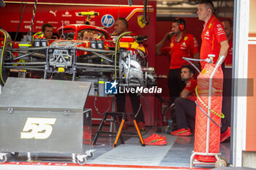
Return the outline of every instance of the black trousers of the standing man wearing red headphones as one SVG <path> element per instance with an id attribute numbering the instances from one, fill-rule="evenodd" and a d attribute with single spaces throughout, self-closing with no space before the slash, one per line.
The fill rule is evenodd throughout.
<path id="1" fill-rule="evenodd" d="M 169 88 L 170 103 L 172 104 L 186 86 L 185 82 L 181 81 L 181 69 L 169 70 L 167 85 Z"/>

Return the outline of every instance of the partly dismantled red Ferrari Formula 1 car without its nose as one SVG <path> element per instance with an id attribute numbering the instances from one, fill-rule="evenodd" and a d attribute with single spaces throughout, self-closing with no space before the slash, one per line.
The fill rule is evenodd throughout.
<path id="1" fill-rule="evenodd" d="M 81 40 L 85 30 L 93 32 L 95 38 Z M 146 67 L 146 49 L 140 45 L 145 37 L 127 38 L 127 32 L 112 39 L 103 28 L 78 24 L 62 26 L 57 33 L 60 39 L 34 37 L 31 42 L 23 40 L 18 48 L 13 48 L 10 35 L 0 29 L 1 85 L 10 72 L 21 72 L 27 77 L 41 72 L 44 79 L 90 81 L 90 94 L 98 96 L 105 96 L 102 82 L 106 81 L 116 80 L 127 86 L 155 85 L 154 69 Z"/>

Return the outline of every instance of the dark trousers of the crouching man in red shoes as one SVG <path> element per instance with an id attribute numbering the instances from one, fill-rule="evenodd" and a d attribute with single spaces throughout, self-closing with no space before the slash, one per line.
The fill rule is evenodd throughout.
<path id="1" fill-rule="evenodd" d="M 195 129 L 195 101 L 178 97 L 175 100 L 177 128 Z"/>

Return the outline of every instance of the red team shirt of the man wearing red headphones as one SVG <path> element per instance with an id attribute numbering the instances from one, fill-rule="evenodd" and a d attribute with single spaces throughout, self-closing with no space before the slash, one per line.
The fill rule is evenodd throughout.
<path id="1" fill-rule="evenodd" d="M 183 57 L 193 58 L 199 52 L 199 47 L 195 37 L 184 32 L 179 42 L 176 42 L 176 36 L 170 39 L 170 51 L 170 69 L 180 69 L 182 65 L 188 64 Z"/>

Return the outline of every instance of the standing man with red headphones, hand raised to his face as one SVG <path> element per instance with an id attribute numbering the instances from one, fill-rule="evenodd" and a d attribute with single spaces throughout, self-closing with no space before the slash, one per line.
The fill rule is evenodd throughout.
<path id="1" fill-rule="evenodd" d="M 170 40 L 170 70 L 168 73 L 167 84 L 169 87 L 170 102 L 173 103 L 181 90 L 184 88 L 184 82 L 181 81 L 181 66 L 188 64 L 184 61 L 186 58 L 199 58 L 199 47 L 195 36 L 187 34 L 184 30 L 186 23 L 181 18 L 176 18 L 172 23 L 172 32 L 167 33 L 161 42 L 157 44 L 157 55 L 165 54 L 162 50 L 167 39 Z M 171 37 L 171 39 L 170 39 Z"/>

